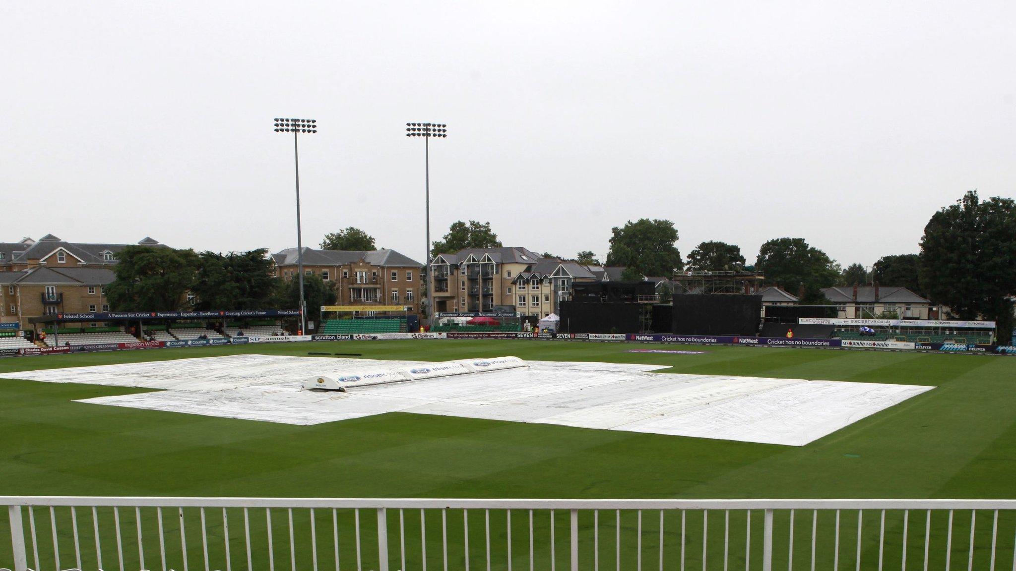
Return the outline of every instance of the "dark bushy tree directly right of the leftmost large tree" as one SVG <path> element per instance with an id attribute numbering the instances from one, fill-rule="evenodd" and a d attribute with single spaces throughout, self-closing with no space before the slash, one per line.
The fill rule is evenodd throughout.
<path id="1" fill-rule="evenodd" d="M 198 256 L 191 292 L 199 310 L 253 310 L 271 306 L 275 278 L 267 250 Z"/>

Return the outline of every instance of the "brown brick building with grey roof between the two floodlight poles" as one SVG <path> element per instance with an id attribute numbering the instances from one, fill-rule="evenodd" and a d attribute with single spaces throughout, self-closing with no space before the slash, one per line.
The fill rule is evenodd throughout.
<path id="1" fill-rule="evenodd" d="M 304 273 L 317 275 L 335 288 L 340 306 L 407 306 L 420 313 L 424 264 L 394 250 L 340 251 L 304 248 Z M 271 255 L 275 275 L 297 276 L 297 249 Z"/>

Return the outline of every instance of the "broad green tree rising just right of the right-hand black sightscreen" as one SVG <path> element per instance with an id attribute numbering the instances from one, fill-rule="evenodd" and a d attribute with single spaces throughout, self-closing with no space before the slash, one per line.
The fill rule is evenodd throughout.
<path id="1" fill-rule="evenodd" d="M 820 291 L 839 279 L 836 262 L 803 238 L 777 238 L 759 248 L 756 271 L 765 275 L 766 282 L 776 284 L 797 296 L 804 289 L 802 302 L 826 303 Z"/>

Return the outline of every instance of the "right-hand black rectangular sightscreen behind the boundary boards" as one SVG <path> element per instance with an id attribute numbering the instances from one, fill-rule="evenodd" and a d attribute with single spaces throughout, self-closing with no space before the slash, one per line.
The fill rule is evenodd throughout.
<path id="1" fill-rule="evenodd" d="M 762 321 L 762 296 L 676 294 L 674 333 L 756 335 Z"/>

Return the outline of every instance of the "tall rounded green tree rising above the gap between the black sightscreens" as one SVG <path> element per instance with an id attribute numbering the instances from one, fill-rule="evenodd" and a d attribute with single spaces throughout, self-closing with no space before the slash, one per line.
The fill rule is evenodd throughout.
<path id="1" fill-rule="evenodd" d="M 678 229 L 671 220 L 629 220 L 624 228 L 615 227 L 612 232 L 607 265 L 623 265 L 641 275 L 666 277 L 684 267 L 681 252 L 674 245 Z"/>

